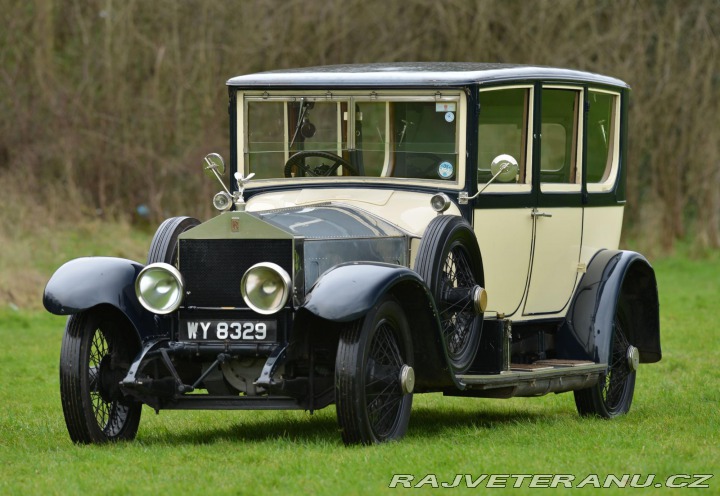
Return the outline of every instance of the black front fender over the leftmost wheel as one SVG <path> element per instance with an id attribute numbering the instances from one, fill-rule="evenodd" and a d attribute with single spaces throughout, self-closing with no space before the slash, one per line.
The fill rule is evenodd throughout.
<path id="1" fill-rule="evenodd" d="M 144 265 L 124 258 L 85 257 L 70 260 L 52 275 L 43 305 L 55 315 L 72 315 L 111 305 L 125 315 L 142 341 L 158 335 L 155 314 L 135 295 L 135 279 Z"/>

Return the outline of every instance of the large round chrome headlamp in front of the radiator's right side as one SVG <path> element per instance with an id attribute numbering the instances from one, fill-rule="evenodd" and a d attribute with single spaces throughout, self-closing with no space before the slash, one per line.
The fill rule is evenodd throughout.
<path id="1" fill-rule="evenodd" d="M 290 276 L 277 264 L 261 262 L 250 267 L 240 282 L 248 307 L 270 315 L 285 306 L 290 297 Z"/>

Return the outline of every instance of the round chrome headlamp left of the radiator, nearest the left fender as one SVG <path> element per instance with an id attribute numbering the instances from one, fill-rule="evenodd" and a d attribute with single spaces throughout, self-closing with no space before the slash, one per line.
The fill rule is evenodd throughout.
<path id="1" fill-rule="evenodd" d="M 147 310 L 160 315 L 174 312 L 182 303 L 185 282 L 180 271 L 166 263 L 145 267 L 135 279 L 135 294 Z"/>

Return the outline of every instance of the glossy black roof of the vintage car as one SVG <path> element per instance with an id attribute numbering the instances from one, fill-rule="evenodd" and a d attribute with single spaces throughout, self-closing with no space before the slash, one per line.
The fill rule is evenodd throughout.
<path id="1" fill-rule="evenodd" d="M 531 65 L 475 62 L 388 62 L 282 69 L 229 79 L 228 86 L 366 87 L 464 86 L 508 81 L 587 82 L 628 88 L 627 83 L 592 72 Z"/>

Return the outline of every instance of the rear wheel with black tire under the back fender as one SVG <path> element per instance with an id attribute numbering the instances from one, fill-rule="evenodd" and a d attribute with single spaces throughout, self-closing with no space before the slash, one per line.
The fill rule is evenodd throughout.
<path id="1" fill-rule="evenodd" d="M 610 419 L 630 411 L 636 372 L 630 367 L 627 357 L 631 344 L 628 340 L 626 311 L 618 304 L 607 373 L 594 386 L 574 392 L 575 406 L 580 415 Z"/>

